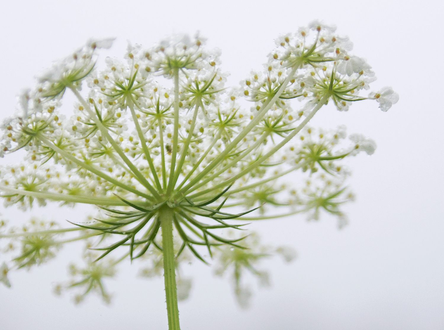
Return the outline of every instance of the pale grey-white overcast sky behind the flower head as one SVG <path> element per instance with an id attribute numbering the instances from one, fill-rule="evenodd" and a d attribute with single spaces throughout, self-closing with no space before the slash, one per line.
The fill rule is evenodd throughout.
<path id="1" fill-rule="evenodd" d="M 16 94 L 52 60 L 90 37 L 117 37 L 105 56 L 121 57 L 126 40 L 151 47 L 173 32 L 208 38 L 222 50 L 222 68 L 238 84 L 262 68 L 281 33 L 313 19 L 336 24 L 354 43 L 353 54 L 372 65 L 377 90 L 391 85 L 400 101 L 387 113 L 376 102 L 357 102 L 346 113 L 327 106 L 312 126 L 346 124 L 350 133 L 374 138 L 378 148 L 349 165 L 357 200 L 346 207 L 350 225 L 341 231 L 323 216 L 271 220 L 251 226 L 267 244 L 293 246 L 290 265 L 264 263 L 273 286 L 257 289 L 252 307 L 240 310 L 227 280 L 194 262 L 188 299 L 180 303 L 183 330 L 443 330 L 443 54 L 439 1 L 4 1 L 0 8 L 0 117 L 11 115 Z M 67 103 L 67 102 L 65 102 Z M 69 106 L 69 105 L 68 105 Z M 9 159 L 9 160 L 8 160 Z M 10 161 L 10 158 L 2 160 Z M 36 208 L 48 220 L 76 220 L 88 210 Z M 8 208 L 11 221 L 30 213 Z M 121 267 L 107 283 L 114 299 L 105 306 L 89 297 L 80 306 L 70 295 L 52 295 L 67 279 L 66 264 L 79 246 L 30 272 L 12 272 L 13 287 L 0 285 L 0 329 L 166 329 L 163 279 L 136 276 Z"/>

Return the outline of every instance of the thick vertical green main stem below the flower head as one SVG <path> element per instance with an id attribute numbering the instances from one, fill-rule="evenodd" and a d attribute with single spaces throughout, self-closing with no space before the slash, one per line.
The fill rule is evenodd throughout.
<path id="1" fill-rule="evenodd" d="M 177 306 L 176 274 L 173 247 L 174 211 L 165 206 L 159 210 L 162 227 L 163 277 L 165 279 L 166 311 L 168 313 L 168 329 L 180 330 L 179 309 Z"/>

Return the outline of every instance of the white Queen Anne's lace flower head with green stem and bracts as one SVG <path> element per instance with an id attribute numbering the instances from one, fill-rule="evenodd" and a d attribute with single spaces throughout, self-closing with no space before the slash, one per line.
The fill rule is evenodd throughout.
<path id="1" fill-rule="evenodd" d="M 220 51 L 206 50 L 200 35 L 173 35 L 151 49 L 128 43 L 123 60 L 106 58 L 99 71 L 97 50 L 111 43 L 90 40 L 55 63 L 34 89 L 24 90 L 18 113 L 2 125 L 0 156 L 21 150 L 25 158 L 23 165 L 0 169 L 6 206 L 29 209 L 56 201 L 101 209 L 74 228 L 45 225 L 1 234 L 21 242 L 16 267 L 44 263 L 62 244 L 88 239 L 88 248 L 100 253 L 88 252 L 85 268 L 71 267 L 75 282 L 56 291 L 83 287 L 76 302 L 92 291 L 109 302 L 102 281 L 115 274 L 115 264 L 151 256 L 143 275 L 163 267 L 169 315 L 177 316 L 177 298 L 186 298 L 190 289 L 189 279 L 178 275 L 176 291 L 175 270 L 180 274 L 177 262 L 184 253 L 204 262 L 219 253 L 219 273 L 234 268 L 242 306 L 251 293 L 241 283 L 242 267 L 268 283 L 267 273 L 253 265 L 277 250 L 248 250 L 243 244 L 257 245 L 252 238 L 221 234 L 241 228 L 231 220 L 300 212 L 317 220 L 322 211 L 337 216 L 340 227 L 346 223 L 341 206 L 353 195 L 341 160 L 360 151 L 372 154 L 376 143 L 352 134 L 348 145 L 345 127 L 307 124 L 329 101 L 344 111 L 376 99 L 386 111 L 398 94 L 384 87 L 362 96 L 376 77 L 334 27 L 313 21 L 278 37 L 263 69 L 234 88 L 226 86 Z M 164 79 L 171 83 L 163 86 Z M 76 101 L 65 118 L 61 99 L 67 90 Z M 308 176 L 302 188 L 285 179 L 294 171 Z M 247 209 L 239 212 L 239 206 Z M 59 234 L 68 231 L 71 238 L 61 240 Z M 94 262 L 121 247 L 128 250 L 117 261 Z M 292 259 L 287 250 L 277 253 Z M 6 274 L 0 276 L 8 285 Z"/>

